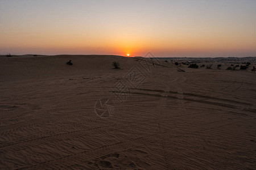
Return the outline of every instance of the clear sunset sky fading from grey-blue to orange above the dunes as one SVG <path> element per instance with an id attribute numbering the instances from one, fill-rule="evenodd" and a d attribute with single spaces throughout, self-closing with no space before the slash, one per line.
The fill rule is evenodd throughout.
<path id="1" fill-rule="evenodd" d="M 0 54 L 256 56 L 256 0 L 0 0 Z"/>

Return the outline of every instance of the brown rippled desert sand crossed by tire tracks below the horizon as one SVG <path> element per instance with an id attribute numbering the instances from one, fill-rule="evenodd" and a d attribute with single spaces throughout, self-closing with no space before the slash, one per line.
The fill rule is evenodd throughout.
<path id="1" fill-rule="evenodd" d="M 1 56 L 0 169 L 255 169 L 255 58 L 174 61 Z"/>

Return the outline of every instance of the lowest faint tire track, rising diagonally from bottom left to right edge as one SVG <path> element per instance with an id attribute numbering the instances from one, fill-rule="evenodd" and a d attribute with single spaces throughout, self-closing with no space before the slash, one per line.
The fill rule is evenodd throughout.
<path id="1" fill-rule="evenodd" d="M 221 124 L 220 124 L 221 121 L 217 121 L 217 122 L 210 122 L 210 123 L 203 124 L 203 125 L 188 127 L 188 128 L 181 128 L 183 131 L 186 131 L 186 133 L 178 134 L 178 135 L 176 135 L 176 133 L 178 133 L 178 130 L 171 131 L 171 132 L 164 132 L 161 134 L 156 133 L 156 134 L 148 135 L 147 137 L 136 138 L 136 139 L 133 139 L 128 142 L 118 142 L 118 143 L 114 143 L 113 145 L 101 146 L 94 150 L 82 151 L 78 154 L 65 156 L 63 158 L 58 158 L 55 160 L 49 160 L 47 162 L 36 164 L 36 165 L 21 167 L 19 169 L 27 169 L 27 168 L 30 168 L 30 169 L 39 169 L 39 168 L 40 169 L 47 169 L 47 168 L 61 169 L 61 168 L 65 168 L 65 167 L 69 167 L 74 164 L 85 162 L 87 160 L 91 160 L 96 157 L 100 157 L 100 156 L 103 156 L 103 155 L 106 155 L 109 153 L 127 150 L 130 148 L 146 145 L 148 143 L 160 141 L 163 139 L 181 137 L 182 135 L 194 133 L 196 131 L 207 130 L 207 129 L 221 127 L 221 126 L 225 126 L 225 125 L 229 125 L 229 124 L 235 124 L 237 122 L 255 119 L 255 117 L 251 117 L 251 118 L 244 118 L 244 117 L 241 118 L 240 117 L 237 119 L 239 119 L 239 120 L 238 121 L 231 121 L 229 119 L 222 120 Z M 181 130 L 181 129 L 179 129 L 179 130 Z M 90 157 L 90 155 L 94 155 L 93 158 Z"/>

